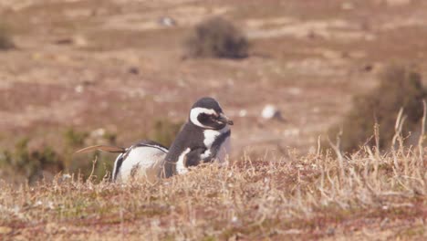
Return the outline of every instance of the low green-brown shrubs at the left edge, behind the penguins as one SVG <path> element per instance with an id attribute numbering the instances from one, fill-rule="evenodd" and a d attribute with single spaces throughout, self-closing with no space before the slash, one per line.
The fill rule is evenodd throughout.
<path id="1" fill-rule="evenodd" d="M 115 134 L 106 133 L 102 138 L 115 141 Z M 70 128 L 64 132 L 65 146 L 61 152 L 43 145 L 36 149 L 28 148 L 29 139 L 23 138 L 16 142 L 15 148 L 0 152 L 0 169 L 5 180 L 22 183 L 35 183 L 43 177 L 54 176 L 59 172 L 81 174 L 86 179 L 92 173 L 93 160 L 97 159 L 93 175 L 96 181 L 102 180 L 113 167 L 115 156 L 108 153 L 93 152 L 75 155 L 79 148 L 84 147 L 89 133 L 75 131 Z"/>

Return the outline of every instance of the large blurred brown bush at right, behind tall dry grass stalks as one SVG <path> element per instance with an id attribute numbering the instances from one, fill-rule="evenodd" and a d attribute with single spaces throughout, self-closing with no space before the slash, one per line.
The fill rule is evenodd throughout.
<path id="1" fill-rule="evenodd" d="M 374 139 L 370 138 L 375 123 L 379 124 L 380 149 L 390 148 L 399 110 L 404 108 L 407 116 L 402 135 L 408 136 L 421 126 L 422 100 L 426 97 L 427 91 L 422 86 L 419 73 L 401 66 L 386 68 L 380 74 L 380 85 L 377 88 L 354 98 L 353 107 L 342 122 L 342 151 L 356 151 L 367 141 L 368 145 L 374 145 Z M 329 137 L 335 138 L 338 130 L 338 126 L 329 130 Z"/>

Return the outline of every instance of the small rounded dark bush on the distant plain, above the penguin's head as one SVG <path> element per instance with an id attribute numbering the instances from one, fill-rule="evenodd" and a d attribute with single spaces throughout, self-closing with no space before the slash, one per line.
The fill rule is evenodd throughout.
<path id="1" fill-rule="evenodd" d="M 249 43 L 233 24 L 213 17 L 195 26 L 185 47 L 188 56 L 193 58 L 246 58 Z"/>

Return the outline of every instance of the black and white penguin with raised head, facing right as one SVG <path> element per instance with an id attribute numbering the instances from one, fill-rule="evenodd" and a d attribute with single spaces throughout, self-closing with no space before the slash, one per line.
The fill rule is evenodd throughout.
<path id="1" fill-rule="evenodd" d="M 230 152 L 229 125 L 233 121 L 224 115 L 218 101 L 208 97 L 197 100 L 166 154 L 162 177 L 187 173 L 189 167 L 201 162 L 226 162 Z"/>

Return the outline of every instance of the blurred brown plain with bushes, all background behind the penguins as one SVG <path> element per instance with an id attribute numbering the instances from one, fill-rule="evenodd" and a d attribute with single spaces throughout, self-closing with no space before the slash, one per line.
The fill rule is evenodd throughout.
<path id="1" fill-rule="evenodd" d="M 169 146 L 194 100 L 220 100 L 234 158 L 417 143 L 426 99 L 424 1 L 4 1 L 0 174 L 109 176 L 94 144 Z M 268 108 L 266 108 L 268 107 Z M 274 113 L 264 115 L 263 110 Z M 268 112 L 268 111 L 264 111 Z M 276 118 L 280 116 L 281 118 Z"/>

